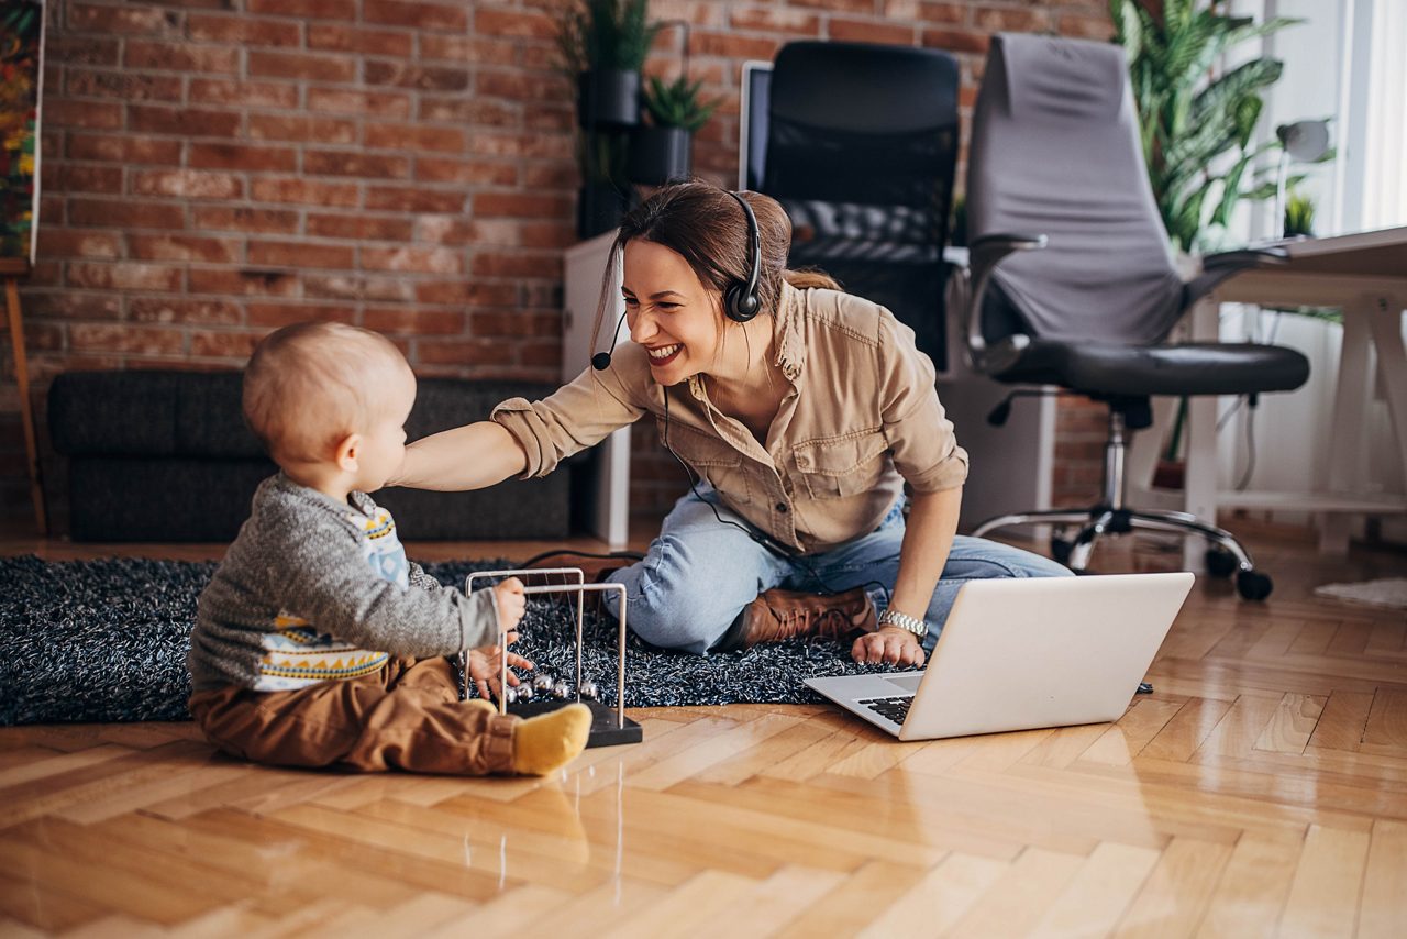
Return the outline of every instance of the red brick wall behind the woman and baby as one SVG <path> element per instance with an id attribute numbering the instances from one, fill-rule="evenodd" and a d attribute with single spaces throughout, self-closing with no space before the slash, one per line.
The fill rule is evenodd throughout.
<path id="1" fill-rule="evenodd" d="M 560 6 L 49 0 L 39 262 L 21 291 L 41 438 L 59 372 L 238 367 L 260 335 L 308 318 L 384 331 L 421 374 L 554 379 L 577 186 L 571 89 L 554 70 Z M 957 52 L 969 107 L 991 32 L 1107 38 L 1104 10 L 650 4 L 692 24 L 694 72 L 725 99 L 695 146 L 696 170 L 718 182 L 736 177 L 741 62 L 788 39 Z M 650 68 L 671 70 L 675 44 L 661 35 Z M 3 352 L 0 496 L 23 517 L 7 341 Z M 639 449 L 644 511 L 682 490 L 667 459 Z"/>

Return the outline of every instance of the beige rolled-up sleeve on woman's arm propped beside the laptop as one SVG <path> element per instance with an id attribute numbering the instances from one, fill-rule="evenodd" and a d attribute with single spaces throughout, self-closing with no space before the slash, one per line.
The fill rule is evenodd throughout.
<path id="1" fill-rule="evenodd" d="M 957 489 L 967 480 L 967 450 L 934 387 L 933 362 L 919 352 L 913 329 L 893 315 L 879 325 L 879 400 L 895 469 L 919 493 Z"/>

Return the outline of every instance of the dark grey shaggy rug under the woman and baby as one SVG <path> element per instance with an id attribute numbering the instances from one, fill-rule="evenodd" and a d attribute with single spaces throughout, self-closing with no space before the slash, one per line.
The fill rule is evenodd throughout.
<path id="1" fill-rule="evenodd" d="M 504 560 L 428 563 L 440 583 L 463 587 L 471 570 Z M 186 650 L 196 598 L 214 563 L 176 560 L 45 562 L 0 557 L 0 726 L 15 724 L 183 721 Z M 478 584 L 476 584 L 477 587 Z M 515 650 L 537 672 L 575 669 L 575 607 L 533 597 Z M 587 612 L 582 670 L 616 698 L 616 621 Z M 794 639 L 747 652 L 692 656 L 626 645 L 626 707 L 819 701 L 802 679 L 885 670 L 850 660 L 834 642 Z"/>

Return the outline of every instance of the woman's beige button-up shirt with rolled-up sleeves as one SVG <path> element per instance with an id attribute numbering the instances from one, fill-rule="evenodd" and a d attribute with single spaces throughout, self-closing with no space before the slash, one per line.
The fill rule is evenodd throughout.
<path id="1" fill-rule="evenodd" d="M 913 329 L 868 300 L 785 283 L 771 322 L 775 362 L 791 387 L 765 443 L 713 405 L 701 376 L 657 384 L 635 344 L 622 345 L 605 372 L 587 369 L 542 401 L 509 398 L 491 420 L 522 445 L 530 479 L 653 414 L 666 445 L 723 504 L 802 552 L 874 531 L 905 480 L 919 493 L 962 484 L 967 452 Z"/>

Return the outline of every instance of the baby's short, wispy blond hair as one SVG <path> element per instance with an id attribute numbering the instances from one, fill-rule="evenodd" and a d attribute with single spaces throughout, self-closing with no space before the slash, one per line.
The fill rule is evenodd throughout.
<path id="1" fill-rule="evenodd" d="M 284 327 L 265 336 L 245 367 L 245 421 L 280 466 L 326 460 L 376 420 L 383 379 L 394 369 L 409 366 L 378 332 L 340 322 Z"/>

